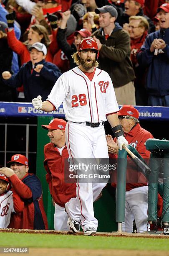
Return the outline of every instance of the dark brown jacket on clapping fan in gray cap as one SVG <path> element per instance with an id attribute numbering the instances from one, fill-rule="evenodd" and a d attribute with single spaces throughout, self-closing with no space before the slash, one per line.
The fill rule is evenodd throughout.
<path id="1" fill-rule="evenodd" d="M 99 68 L 108 72 L 114 87 L 133 81 L 135 76 L 130 60 L 129 34 L 118 23 L 115 23 L 115 28 L 107 40 L 102 28 L 92 36 L 96 36 L 102 44 L 98 58 Z"/>

